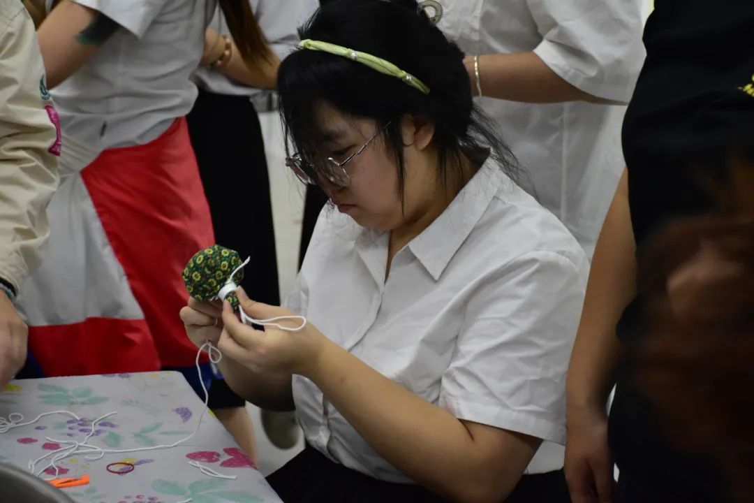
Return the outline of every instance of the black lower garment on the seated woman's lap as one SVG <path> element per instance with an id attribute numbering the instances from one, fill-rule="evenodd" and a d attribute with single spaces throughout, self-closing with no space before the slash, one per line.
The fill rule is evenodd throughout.
<path id="1" fill-rule="evenodd" d="M 327 459 L 307 444 L 304 451 L 267 477 L 284 503 L 441 503 L 415 484 L 385 482 Z M 506 503 L 570 503 L 562 471 L 524 475 Z"/>

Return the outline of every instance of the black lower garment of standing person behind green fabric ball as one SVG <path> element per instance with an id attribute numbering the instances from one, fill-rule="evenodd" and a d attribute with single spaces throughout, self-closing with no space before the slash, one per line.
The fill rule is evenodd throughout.
<path id="1" fill-rule="evenodd" d="M 215 241 L 238 251 L 242 260 L 251 257 L 241 282 L 249 297 L 278 305 L 270 180 L 259 116 L 247 97 L 200 91 L 188 121 Z M 244 403 L 225 381 L 212 383 L 211 408 Z"/>

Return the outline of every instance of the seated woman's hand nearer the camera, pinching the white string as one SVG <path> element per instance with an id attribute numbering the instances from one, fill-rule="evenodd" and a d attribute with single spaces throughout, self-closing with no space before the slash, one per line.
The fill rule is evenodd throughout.
<path id="1" fill-rule="evenodd" d="M 237 295 L 244 312 L 257 320 L 296 316 L 287 309 L 250 300 L 241 288 L 238 289 Z M 270 326 L 266 326 L 265 330 L 256 330 L 241 323 L 227 302 L 222 308 L 222 321 L 224 330 L 219 336 L 217 348 L 225 357 L 230 357 L 258 373 L 309 376 L 317 367 L 325 349 L 333 345 L 333 342 L 312 324 L 306 324 L 297 331 L 280 330 Z M 300 324 L 296 319 L 276 323 L 284 327 L 296 327 Z"/>

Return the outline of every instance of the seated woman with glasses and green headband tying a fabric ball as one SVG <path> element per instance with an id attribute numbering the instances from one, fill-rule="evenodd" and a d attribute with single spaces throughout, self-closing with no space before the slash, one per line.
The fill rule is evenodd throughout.
<path id="1" fill-rule="evenodd" d="M 309 324 L 181 313 L 234 391 L 296 409 L 307 447 L 268 480 L 296 502 L 569 501 L 561 472 L 524 473 L 565 440 L 583 250 L 512 181 L 463 54 L 415 2 L 332 2 L 302 38 L 278 74 L 289 163 L 338 213 L 323 210 L 287 308 L 239 295 L 253 317 Z"/>

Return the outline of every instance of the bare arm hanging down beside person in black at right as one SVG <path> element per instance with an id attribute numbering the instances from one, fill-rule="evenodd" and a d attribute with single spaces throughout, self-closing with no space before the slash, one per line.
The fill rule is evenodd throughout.
<path id="1" fill-rule="evenodd" d="M 624 171 L 597 240 L 566 384 L 566 478 L 574 503 L 612 501 L 606 406 L 621 358 L 615 326 L 635 293 L 636 244 Z"/>

